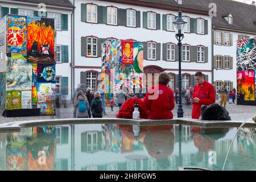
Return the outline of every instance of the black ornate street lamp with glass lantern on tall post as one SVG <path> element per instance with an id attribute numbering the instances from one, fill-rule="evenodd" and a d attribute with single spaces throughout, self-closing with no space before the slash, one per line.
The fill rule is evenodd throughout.
<path id="1" fill-rule="evenodd" d="M 179 107 L 177 109 L 177 117 L 178 118 L 183 118 L 183 109 L 182 109 L 182 104 L 181 104 L 181 40 L 184 38 L 183 30 L 185 27 L 185 20 L 182 18 L 182 11 L 178 12 L 178 17 L 174 21 L 174 26 L 175 26 L 175 32 L 176 32 L 176 39 L 178 40 L 177 46 L 179 47 Z"/>

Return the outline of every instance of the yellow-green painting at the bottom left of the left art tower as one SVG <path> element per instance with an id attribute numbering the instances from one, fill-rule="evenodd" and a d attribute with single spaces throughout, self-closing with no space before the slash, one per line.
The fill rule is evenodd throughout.
<path id="1" fill-rule="evenodd" d="M 6 109 L 22 109 L 22 98 L 21 91 L 13 90 L 6 92 Z"/>

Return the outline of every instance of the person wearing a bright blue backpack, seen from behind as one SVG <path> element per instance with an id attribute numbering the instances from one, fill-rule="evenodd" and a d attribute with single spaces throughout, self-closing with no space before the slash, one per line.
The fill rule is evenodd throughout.
<path id="1" fill-rule="evenodd" d="M 76 118 L 88 118 L 89 102 L 81 90 L 77 92 L 74 103 Z"/>

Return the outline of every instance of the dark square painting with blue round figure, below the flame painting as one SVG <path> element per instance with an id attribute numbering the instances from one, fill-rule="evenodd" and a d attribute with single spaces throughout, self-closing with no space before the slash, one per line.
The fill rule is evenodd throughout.
<path id="1" fill-rule="evenodd" d="M 55 65 L 38 64 L 38 82 L 55 82 Z"/>

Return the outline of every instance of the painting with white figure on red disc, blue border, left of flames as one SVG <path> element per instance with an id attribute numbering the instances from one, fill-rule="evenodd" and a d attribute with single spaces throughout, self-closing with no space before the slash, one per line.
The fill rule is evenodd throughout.
<path id="1" fill-rule="evenodd" d="M 8 15 L 7 50 L 9 53 L 27 54 L 27 20 L 26 16 Z"/>

